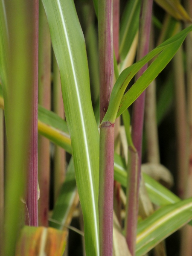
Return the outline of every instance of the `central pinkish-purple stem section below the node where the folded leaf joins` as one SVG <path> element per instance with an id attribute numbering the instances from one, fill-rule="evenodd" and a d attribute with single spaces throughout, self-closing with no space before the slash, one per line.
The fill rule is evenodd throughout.
<path id="1" fill-rule="evenodd" d="M 104 123 L 105 124 L 105 123 Z M 100 128 L 99 230 L 100 255 L 113 254 L 114 124 Z M 109 126 L 107 126 L 109 125 Z"/>

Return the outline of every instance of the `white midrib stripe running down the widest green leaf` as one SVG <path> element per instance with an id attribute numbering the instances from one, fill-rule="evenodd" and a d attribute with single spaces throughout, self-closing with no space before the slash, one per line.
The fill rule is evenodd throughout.
<path id="1" fill-rule="evenodd" d="M 89 173 L 89 179 L 90 179 L 90 187 L 91 187 L 91 194 L 93 197 L 93 215 L 94 215 L 94 225 L 95 225 L 95 232 L 96 232 L 96 247 L 97 247 L 97 255 L 99 255 L 99 241 L 98 241 L 98 230 L 97 230 L 97 218 L 96 218 L 96 208 L 95 208 L 95 197 L 94 197 L 94 190 L 93 190 L 93 179 L 92 179 L 92 174 L 91 174 L 91 166 L 90 166 L 90 156 L 89 156 L 89 150 L 88 150 L 88 143 L 87 143 L 87 136 L 86 136 L 86 131 L 85 131 L 85 125 L 84 125 L 84 116 L 83 116 L 83 111 L 81 108 L 81 99 L 79 96 L 79 88 L 78 88 L 78 84 L 77 84 L 77 79 L 76 79 L 76 73 L 75 73 L 75 67 L 73 65 L 73 56 L 71 53 L 71 47 L 70 47 L 70 42 L 68 39 L 68 33 L 67 33 L 67 28 L 65 26 L 65 21 L 64 21 L 64 17 L 63 17 L 63 13 L 62 13 L 62 8 L 61 8 L 61 4 L 60 1 L 57 0 L 58 3 L 58 9 L 60 12 L 60 16 L 61 16 L 61 20 L 62 20 L 62 24 L 63 24 L 63 28 L 64 28 L 64 33 L 66 36 L 66 41 L 67 41 L 67 48 L 69 50 L 69 55 L 70 55 L 70 63 L 71 63 L 71 67 L 73 70 L 73 77 L 74 77 L 74 81 L 75 81 L 75 85 L 76 85 L 76 93 L 77 93 L 77 99 L 78 99 L 78 103 L 79 103 L 79 110 L 80 110 L 80 115 L 81 115 L 81 123 L 82 123 L 82 128 L 83 128 L 83 134 L 84 134 L 84 143 L 85 143 L 85 150 L 87 153 L 87 165 L 88 165 L 88 173 Z"/>

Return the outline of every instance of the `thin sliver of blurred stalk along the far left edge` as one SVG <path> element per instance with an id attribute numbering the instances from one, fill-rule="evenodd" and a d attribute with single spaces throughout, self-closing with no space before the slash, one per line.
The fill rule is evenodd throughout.
<path id="1" fill-rule="evenodd" d="M 4 226 L 4 114 L 0 109 L 0 248 L 3 248 Z M 0 250 L 3 256 L 3 250 Z"/>

